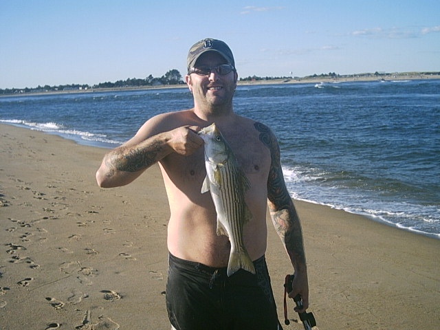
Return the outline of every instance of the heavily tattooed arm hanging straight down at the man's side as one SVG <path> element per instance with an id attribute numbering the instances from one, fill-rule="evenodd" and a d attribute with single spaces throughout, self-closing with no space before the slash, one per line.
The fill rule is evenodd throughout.
<path id="1" fill-rule="evenodd" d="M 293 291 L 289 296 L 293 298 L 300 294 L 303 297 L 303 310 L 305 310 L 309 306 L 309 285 L 300 219 L 285 185 L 278 141 L 267 126 L 259 123 L 255 126 L 260 131 L 261 142 L 270 148 L 272 157 L 267 179 L 267 204 L 270 216 L 295 270 Z"/>

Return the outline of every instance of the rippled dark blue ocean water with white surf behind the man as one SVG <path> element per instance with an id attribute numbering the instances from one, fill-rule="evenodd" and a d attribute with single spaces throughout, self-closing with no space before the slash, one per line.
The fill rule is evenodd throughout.
<path id="1" fill-rule="evenodd" d="M 0 122 L 113 148 L 187 89 L 0 98 Z M 240 86 L 236 113 L 272 128 L 292 197 L 440 239 L 440 80 Z"/>

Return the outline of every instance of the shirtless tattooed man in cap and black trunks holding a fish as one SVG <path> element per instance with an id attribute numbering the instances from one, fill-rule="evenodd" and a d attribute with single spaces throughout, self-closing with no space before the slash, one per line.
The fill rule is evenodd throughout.
<path id="1" fill-rule="evenodd" d="M 195 43 L 187 67 L 194 107 L 147 120 L 131 140 L 104 156 L 98 185 L 129 184 L 159 163 L 170 206 L 166 305 L 175 329 L 281 329 L 264 259 L 267 204 L 295 270 L 289 296 L 303 297 L 303 311 L 309 292 L 301 225 L 283 179 L 278 142 L 267 126 L 234 113 L 238 75 L 228 45 L 215 39 Z M 255 275 L 245 270 L 226 275 L 230 241 L 217 235 L 214 203 L 201 193 L 206 170 L 197 131 L 212 122 L 250 181 L 245 203 L 252 219 L 243 236 Z"/>

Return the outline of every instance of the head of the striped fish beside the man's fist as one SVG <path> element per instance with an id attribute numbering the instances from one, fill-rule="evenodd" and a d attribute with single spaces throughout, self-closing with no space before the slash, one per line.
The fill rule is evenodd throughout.
<path id="1" fill-rule="evenodd" d="M 215 123 L 199 131 L 200 137 L 205 142 L 205 158 L 214 164 L 223 164 L 230 155 L 230 146 L 217 128 Z"/>

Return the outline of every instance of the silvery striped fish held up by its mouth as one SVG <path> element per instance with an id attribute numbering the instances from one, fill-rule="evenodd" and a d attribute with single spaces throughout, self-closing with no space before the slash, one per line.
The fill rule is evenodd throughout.
<path id="1" fill-rule="evenodd" d="M 217 212 L 217 235 L 228 236 L 231 244 L 226 274 L 232 276 L 240 269 L 255 274 L 254 263 L 243 241 L 243 226 L 252 219 L 245 203 L 245 192 L 250 188 L 248 177 L 215 123 L 198 134 L 205 142 L 206 177 L 201 193 L 210 192 Z"/>

